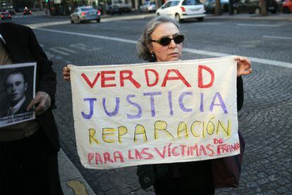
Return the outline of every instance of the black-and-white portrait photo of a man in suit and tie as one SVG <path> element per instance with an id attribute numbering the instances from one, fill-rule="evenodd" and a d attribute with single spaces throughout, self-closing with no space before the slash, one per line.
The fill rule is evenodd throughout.
<path id="1" fill-rule="evenodd" d="M 35 97 L 36 63 L 0 65 L 0 127 L 35 119 L 27 111 Z"/>

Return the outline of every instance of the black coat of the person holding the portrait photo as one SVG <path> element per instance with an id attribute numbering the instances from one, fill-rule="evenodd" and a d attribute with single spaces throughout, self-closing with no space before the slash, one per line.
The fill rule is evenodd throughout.
<path id="1" fill-rule="evenodd" d="M 51 61 L 37 42 L 30 27 L 14 23 L 0 23 L 0 33 L 6 42 L 6 50 L 13 63 L 37 62 L 36 91 L 46 92 L 51 96 L 51 108 L 37 116 L 37 121 L 56 150 L 60 149 L 59 135 L 52 108 L 56 108 L 56 73 L 51 68 Z"/>

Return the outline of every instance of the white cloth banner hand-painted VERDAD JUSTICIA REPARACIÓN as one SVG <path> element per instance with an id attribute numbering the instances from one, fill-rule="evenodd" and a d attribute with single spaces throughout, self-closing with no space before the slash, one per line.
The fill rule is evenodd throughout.
<path id="1" fill-rule="evenodd" d="M 233 56 L 71 68 L 85 168 L 203 161 L 240 153 Z"/>

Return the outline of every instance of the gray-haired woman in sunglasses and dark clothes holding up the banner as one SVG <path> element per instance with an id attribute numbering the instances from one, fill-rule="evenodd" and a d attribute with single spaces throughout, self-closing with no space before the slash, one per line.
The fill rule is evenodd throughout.
<path id="1" fill-rule="evenodd" d="M 149 62 L 179 61 L 184 38 L 175 20 L 166 16 L 153 18 L 138 41 L 138 56 Z M 234 60 L 238 62 L 237 105 L 240 110 L 243 105 L 241 75 L 250 74 L 251 68 L 248 58 L 235 57 Z M 63 68 L 63 79 L 70 80 L 70 65 Z M 142 165 L 138 166 L 138 176 L 142 188 L 153 184 L 156 194 L 214 194 L 212 160 Z"/>

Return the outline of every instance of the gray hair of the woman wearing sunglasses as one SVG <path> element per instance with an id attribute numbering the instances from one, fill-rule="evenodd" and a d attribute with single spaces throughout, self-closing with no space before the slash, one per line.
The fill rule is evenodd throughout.
<path id="1" fill-rule="evenodd" d="M 176 25 L 176 27 L 178 27 L 179 30 L 178 22 L 176 22 L 176 20 L 170 18 L 169 16 L 160 15 L 158 17 L 152 18 L 152 20 L 150 20 L 145 26 L 137 43 L 138 56 L 145 61 L 156 61 L 156 59 L 153 59 L 153 57 L 151 56 L 149 49 L 152 44 L 151 34 L 152 32 L 154 32 L 155 28 L 157 28 L 162 23 L 173 23 L 174 25 Z"/>

